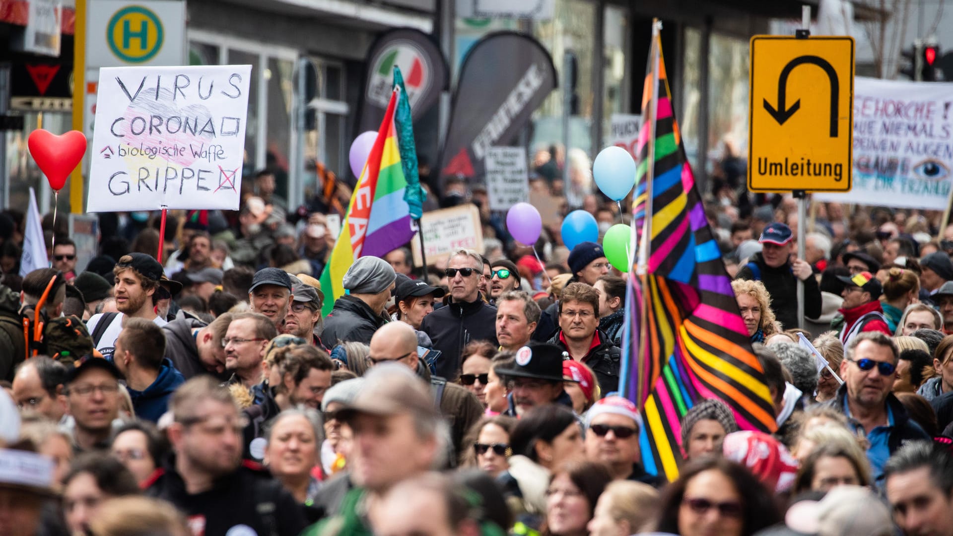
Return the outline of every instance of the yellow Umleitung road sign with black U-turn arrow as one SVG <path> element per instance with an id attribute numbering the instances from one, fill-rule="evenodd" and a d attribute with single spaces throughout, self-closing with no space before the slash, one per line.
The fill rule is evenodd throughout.
<path id="1" fill-rule="evenodd" d="M 847 192 L 854 38 L 751 38 L 748 189 Z"/>

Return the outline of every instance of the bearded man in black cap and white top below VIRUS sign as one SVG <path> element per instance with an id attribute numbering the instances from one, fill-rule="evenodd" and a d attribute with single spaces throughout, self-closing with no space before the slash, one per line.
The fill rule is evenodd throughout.
<path id="1" fill-rule="evenodd" d="M 116 262 L 112 274 L 119 312 L 93 315 L 87 322 L 92 343 L 107 359 L 112 358 L 115 340 L 122 331 L 125 317 L 152 320 L 159 327 L 169 323 L 156 314 L 152 300 L 162 278 L 162 265 L 155 258 L 144 253 L 124 255 Z"/>

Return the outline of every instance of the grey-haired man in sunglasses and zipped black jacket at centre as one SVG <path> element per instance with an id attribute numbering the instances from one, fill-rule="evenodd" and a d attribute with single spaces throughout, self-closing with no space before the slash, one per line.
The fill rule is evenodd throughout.
<path id="1" fill-rule="evenodd" d="M 450 299 L 445 307 L 423 318 L 420 331 L 426 333 L 440 352 L 436 375 L 456 378 L 460 372 L 463 347 L 474 340 L 497 346 L 497 308 L 480 299 L 483 258 L 475 251 L 460 249 L 450 257 L 446 269 Z"/>

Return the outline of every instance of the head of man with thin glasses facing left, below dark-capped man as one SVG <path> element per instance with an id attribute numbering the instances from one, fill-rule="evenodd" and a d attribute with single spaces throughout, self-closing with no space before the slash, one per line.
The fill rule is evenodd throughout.
<path id="1" fill-rule="evenodd" d="M 249 389 L 261 383 L 265 372 L 261 366 L 261 361 L 265 359 L 265 346 L 277 336 L 274 323 L 264 315 L 234 315 L 222 339 L 225 370 L 232 372 L 229 383 L 241 383 Z"/>

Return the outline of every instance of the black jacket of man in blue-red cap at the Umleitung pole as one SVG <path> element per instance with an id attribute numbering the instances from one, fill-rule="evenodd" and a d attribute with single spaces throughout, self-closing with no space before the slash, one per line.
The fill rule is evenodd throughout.
<path id="1" fill-rule="evenodd" d="M 755 263 L 760 269 L 760 277 L 748 264 Z M 737 279 L 757 279 L 764 283 L 764 288 L 771 295 L 771 310 L 775 319 L 781 322 L 783 329 L 801 327 L 798 325 L 798 278 L 791 273 L 791 263 L 785 262 L 779 268 L 771 268 L 764 264 L 760 253 L 751 256 L 738 271 Z M 807 278 L 804 281 L 804 317 L 817 319 L 821 316 L 821 287 L 816 278 Z"/>

